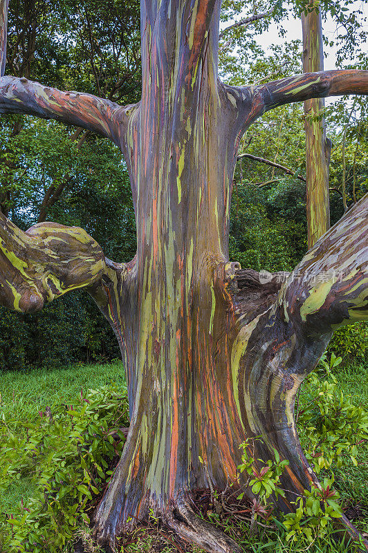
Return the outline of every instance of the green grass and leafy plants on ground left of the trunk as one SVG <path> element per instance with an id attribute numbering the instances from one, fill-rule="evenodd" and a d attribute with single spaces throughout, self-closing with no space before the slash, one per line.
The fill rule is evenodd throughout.
<path id="1" fill-rule="evenodd" d="M 104 489 L 129 424 L 122 373 L 117 363 L 3 375 L 3 551 L 60 551 L 77 522 L 89 523 L 86 503 Z M 14 505 L 20 512 L 6 515 Z"/>

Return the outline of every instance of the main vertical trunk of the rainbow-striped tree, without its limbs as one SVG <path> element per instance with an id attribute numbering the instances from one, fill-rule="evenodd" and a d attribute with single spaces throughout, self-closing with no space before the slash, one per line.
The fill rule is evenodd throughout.
<path id="1" fill-rule="evenodd" d="M 138 250 L 129 301 L 116 297 L 111 310 L 122 314 L 131 430 L 98 511 L 104 538 L 149 507 L 179 524 L 178 500 L 209 485 L 199 457 L 223 489 L 246 435 L 230 376 L 236 332 L 225 275 L 237 266 L 226 264 L 237 133 L 226 129 L 229 102 L 213 63 L 219 8 L 202 58 L 195 12 L 185 9 L 187 28 L 169 28 L 167 41 L 164 19 L 154 31 L 150 17 L 143 8 L 142 102 L 125 145 Z"/>

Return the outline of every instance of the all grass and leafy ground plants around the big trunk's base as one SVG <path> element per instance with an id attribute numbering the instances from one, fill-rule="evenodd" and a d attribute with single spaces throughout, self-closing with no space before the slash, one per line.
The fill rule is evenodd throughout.
<path id="1" fill-rule="evenodd" d="M 275 488 L 282 493 L 277 475 L 287 462 L 280 466 L 275 451 L 274 462 L 257 471 L 250 444 L 243 444 L 238 468 L 249 475 L 257 503 L 243 500 L 232 487 L 226 494 L 196 492 L 197 515 L 234 538 L 242 551 L 343 552 L 347 545 L 335 543 L 331 525 L 340 509 L 364 534 L 368 413 L 362 406 L 368 400 L 368 366 L 340 360 L 334 354 L 322 358 L 297 402 L 302 444 L 322 489 L 306 491 L 309 498 L 295 514 L 274 518 L 265 501 Z M 98 551 L 89 518 L 118 462 L 129 424 L 122 364 L 2 373 L 0 391 L 0 550 Z M 326 509 L 320 509 L 323 494 Z M 127 553 L 200 551 L 177 541 L 154 512 L 118 543 L 118 551 Z"/>

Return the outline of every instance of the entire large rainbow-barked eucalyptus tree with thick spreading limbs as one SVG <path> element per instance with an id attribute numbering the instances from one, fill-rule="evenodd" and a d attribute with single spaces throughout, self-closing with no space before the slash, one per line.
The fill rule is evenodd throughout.
<path id="1" fill-rule="evenodd" d="M 153 509 L 209 552 L 238 551 L 194 515 L 192 492 L 236 480 L 239 444 L 258 435 L 256 458 L 274 458 L 276 449 L 289 461 L 277 507 L 292 509 L 295 494 L 317 482 L 297 437 L 295 394 L 333 330 L 367 317 L 367 196 L 291 274 L 241 270 L 229 262 L 228 234 L 237 148 L 248 126 L 282 104 L 367 94 L 368 71 L 226 86 L 217 75 L 220 4 L 142 2 L 136 105 L 0 80 L 1 113 L 100 133 L 118 144 L 129 169 L 137 252 L 127 263 L 106 259 L 80 228 L 39 223 L 22 232 L 0 219 L 1 303 L 35 311 L 86 288 L 120 344 L 131 424 L 95 513 L 102 543 L 113 544 Z M 5 28 L 3 17 L 3 37 Z M 347 519 L 340 523 L 356 533 Z"/>

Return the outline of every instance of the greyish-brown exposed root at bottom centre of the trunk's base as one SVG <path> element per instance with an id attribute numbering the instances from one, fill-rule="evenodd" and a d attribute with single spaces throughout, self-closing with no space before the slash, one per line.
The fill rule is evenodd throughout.
<path id="1" fill-rule="evenodd" d="M 184 498 L 178 498 L 172 514 L 172 517 L 165 517 L 163 522 L 185 541 L 199 545 L 208 553 L 241 553 L 239 545 L 232 538 L 201 520 Z"/>

